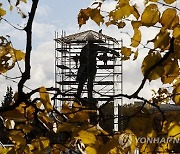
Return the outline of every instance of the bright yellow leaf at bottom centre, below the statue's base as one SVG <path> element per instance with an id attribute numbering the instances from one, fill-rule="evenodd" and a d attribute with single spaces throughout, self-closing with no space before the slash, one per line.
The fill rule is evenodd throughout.
<path id="1" fill-rule="evenodd" d="M 91 145 L 96 143 L 96 137 L 93 133 L 85 130 L 81 130 L 78 134 L 79 134 L 78 138 L 81 139 L 81 141 L 84 144 Z"/>

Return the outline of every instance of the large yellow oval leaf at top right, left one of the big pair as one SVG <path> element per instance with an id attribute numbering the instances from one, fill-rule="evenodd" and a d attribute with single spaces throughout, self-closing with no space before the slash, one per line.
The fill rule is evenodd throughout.
<path id="1" fill-rule="evenodd" d="M 158 10 L 158 7 L 156 4 L 150 4 L 148 5 L 142 16 L 141 16 L 141 22 L 143 26 L 153 26 L 159 21 L 160 12 Z"/>

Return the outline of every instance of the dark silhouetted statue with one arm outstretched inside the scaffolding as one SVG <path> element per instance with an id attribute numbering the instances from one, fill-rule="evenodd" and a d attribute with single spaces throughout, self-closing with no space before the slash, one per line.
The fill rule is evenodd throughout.
<path id="1" fill-rule="evenodd" d="M 92 35 L 88 37 L 88 43 L 82 48 L 80 53 L 80 67 L 78 69 L 76 80 L 79 82 L 77 95 L 80 97 L 83 86 L 87 80 L 87 89 L 88 89 L 88 99 L 91 100 L 92 91 L 93 91 L 93 81 L 96 75 L 96 57 L 98 51 L 108 52 L 111 51 L 112 54 L 119 56 L 119 53 L 113 49 L 106 48 L 103 46 L 99 46 L 94 44 L 95 39 Z"/>

